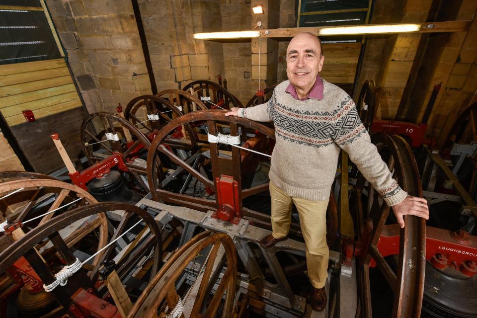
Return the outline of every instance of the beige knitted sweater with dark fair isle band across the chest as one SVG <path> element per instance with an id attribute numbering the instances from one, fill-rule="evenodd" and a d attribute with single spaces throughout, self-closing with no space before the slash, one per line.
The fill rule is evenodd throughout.
<path id="1" fill-rule="evenodd" d="M 323 99 L 301 101 L 285 92 L 289 83 L 277 85 L 267 103 L 239 109 L 240 117 L 275 125 L 270 180 L 289 196 L 326 200 L 342 149 L 389 206 L 404 200 L 351 97 L 323 80 Z"/>

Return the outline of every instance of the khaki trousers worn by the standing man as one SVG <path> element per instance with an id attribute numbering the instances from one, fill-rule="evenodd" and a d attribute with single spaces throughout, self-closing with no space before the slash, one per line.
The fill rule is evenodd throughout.
<path id="1" fill-rule="evenodd" d="M 329 250 L 326 244 L 326 208 L 328 201 L 310 201 L 290 197 L 270 181 L 272 199 L 272 235 L 280 239 L 288 235 L 292 220 L 292 204 L 300 215 L 300 227 L 306 244 L 308 277 L 315 288 L 322 288 L 328 277 Z"/>

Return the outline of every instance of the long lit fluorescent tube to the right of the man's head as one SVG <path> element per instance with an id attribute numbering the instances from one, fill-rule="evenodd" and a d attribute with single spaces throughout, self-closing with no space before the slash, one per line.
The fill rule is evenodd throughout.
<path id="1" fill-rule="evenodd" d="M 381 24 L 381 25 L 354 25 L 325 27 L 319 29 L 319 35 L 343 35 L 343 34 L 380 34 L 380 33 L 405 33 L 417 32 L 421 29 L 419 23 L 409 24 Z"/>

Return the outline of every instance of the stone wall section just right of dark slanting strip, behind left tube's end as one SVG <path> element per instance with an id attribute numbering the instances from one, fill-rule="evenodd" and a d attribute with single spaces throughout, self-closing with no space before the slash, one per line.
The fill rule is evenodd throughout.
<path id="1" fill-rule="evenodd" d="M 193 38 L 197 32 L 221 30 L 219 1 L 140 0 L 139 4 L 159 91 L 211 79 L 224 69 L 222 44 Z"/>

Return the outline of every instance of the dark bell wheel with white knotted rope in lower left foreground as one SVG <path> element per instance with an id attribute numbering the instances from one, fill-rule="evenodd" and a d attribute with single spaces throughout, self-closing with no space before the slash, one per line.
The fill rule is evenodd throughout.
<path id="1" fill-rule="evenodd" d="M 109 211 L 123 211 L 124 217 L 113 231 L 109 243 L 101 249 L 91 249 L 90 241 L 97 235 L 91 228 L 86 236 L 77 239 L 74 246 L 69 245 L 64 239 L 64 233 L 68 231 L 70 225 L 82 223 L 86 224 L 87 228 L 91 218 Z M 125 237 L 128 233 L 134 235 Z M 124 239 L 129 243 L 120 252 L 117 250 L 120 246 L 116 243 L 117 239 Z M 79 250 L 82 252 L 79 253 Z M 109 286 L 106 287 L 107 284 L 98 280 L 99 275 L 105 275 L 102 279 L 106 276 L 109 279 L 109 273 L 114 271 L 115 277 L 120 280 L 133 275 L 136 279 L 149 282 L 160 267 L 162 241 L 156 221 L 145 210 L 130 204 L 106 202 L 80 207 L 56 216 L 9 245 L 0 255 L 1 272 L 8 271 L 15 275 L 18 271 L 20 273 L 25 271 L 25 268 L 27 271 L 28 268 L 30 271 L 34 270 L 30 273 L 32 275 L 30 281 L 35 282 L 35 292 L 44 293 L 41 288 L 44 284 L 45 290 L 54 295 L 62 306 L 55 309 L 58 315 L 70 313 L 78 317 L 75 309 L 81 308 L 81 311 L 89 311 L 93 317 L 103 317 L 101 313 L 103 315 L 106 312 L 114 313 L 116 309 L 107 302 L 104 303 L 104 307 L 92 306 L 94 303 L 102 302 L 100 297 L 107 296 L 108 291 L 114 293 Z M 93 258 L 99 259 L 99 262 L 91 263 Z M 104 273 L 104 266 L 109 264 L 106 262 L 108 260 L 115 262 L 112 263 L 113 267 Z M 68 274 L 65 268 L 69 266 L 75 269 Z M 143 266 L 146 266 L 145 270 L 137 270 Z"/>

